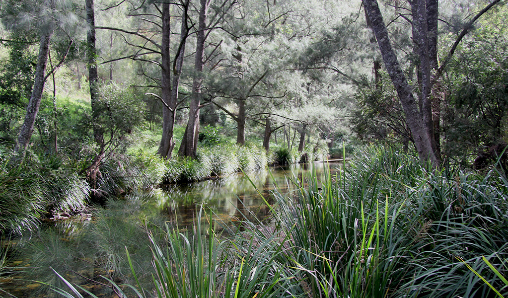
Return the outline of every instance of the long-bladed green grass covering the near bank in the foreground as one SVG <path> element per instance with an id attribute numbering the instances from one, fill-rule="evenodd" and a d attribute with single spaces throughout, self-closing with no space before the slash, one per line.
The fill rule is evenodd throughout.
<path id="1" fill-rule="evenodd" d="M 324 180 L 311 173 L 292 181 L 296 192 L 273 191 L 270 222 L 219 233 L 203 207 L 194 229 L 144 219 L 151 284 L 130 250 L 131 282 L 103 282 L 137 297 L 506 296 L 505 172 L 431 169 L 369 147 Z M 58 274 L 59 294 L 94 296 Z"/>

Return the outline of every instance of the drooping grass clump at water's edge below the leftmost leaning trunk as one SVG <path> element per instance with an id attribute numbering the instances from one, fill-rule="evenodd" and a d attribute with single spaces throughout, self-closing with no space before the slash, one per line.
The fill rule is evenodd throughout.
<path id="1" fill-rule="evenodd" d="M 0 164 L 0 227 L 4 233 L 35 229 L 49 212 L 76 212 L 84 208 L 89 187 L 70 165 L 56 156 L 29 156 L 12 165 Z"/>

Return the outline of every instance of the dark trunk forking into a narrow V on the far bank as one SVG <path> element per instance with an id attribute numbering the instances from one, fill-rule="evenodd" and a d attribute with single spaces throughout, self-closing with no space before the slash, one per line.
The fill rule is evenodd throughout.
<path id="1" fill-rule="evenodd" d="M 185 41 L 188 35 L 187 28 L 187 9 L 188 0 L 183 6 L 182 23 L 180 29 L 180 45 L 177 57 L 173 67 L 170 60 L 170 4 L 164 3 L 162 9 L 162 42 L 161 42 L 161 97 L 165 105 L 163 108 L 163 132 L 161 144 L 157 151 L 162 158 L 170 159 L 175 142 L 173 140 L 173 130 L 175 127 L 176 106 L 178 101 L 178 85 L 182 72 L 183 58 L 185 53 Z M 173 80 L 171 80 L 171 72 Z"/>

